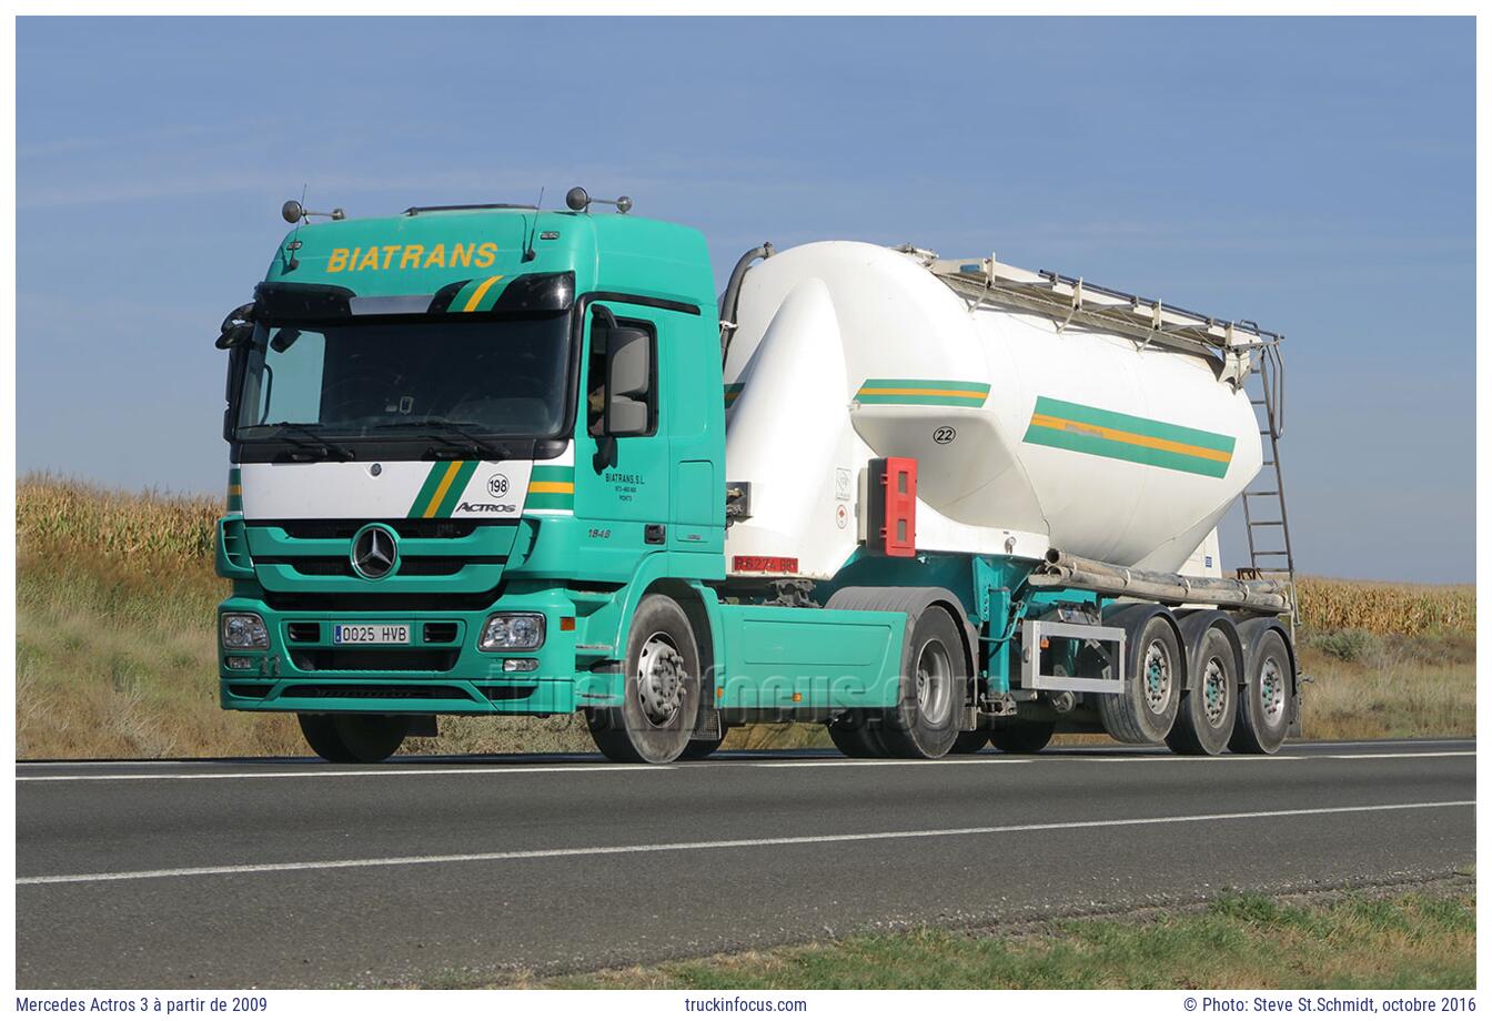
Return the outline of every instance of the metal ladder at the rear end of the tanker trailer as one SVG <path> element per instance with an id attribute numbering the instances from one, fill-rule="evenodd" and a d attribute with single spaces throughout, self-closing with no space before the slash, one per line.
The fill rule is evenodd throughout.
<path id="1" fill-rule="evenodd" d="M 1247 323 L 1253 325 L 1253 323 Z M 1258 379 L 1256 386 L 1244 383 L 1249 404 L 1253 405 L 1264 440 L 1264 465 L 1250 486 L 1244 489 L 1243 520 L 1249 535 L 1249 568 L 1255 578 L 1282 580 L 1291 590 L 1291 633 L 1300 620 L 1295 599 L 1295 551 L 1291 547 L 1291 519 L 1285 510 L 1285 472 L 1280 468 L 1280 435 L 1285 432 L 1285 364 L 1274 346 L 1259 349 L 1259 365 L 1249 379 Z M 1258 391 L 1258 392 L 1255 392 Z M 1273 489 L 1271 486 L 1273 480 Z"/>

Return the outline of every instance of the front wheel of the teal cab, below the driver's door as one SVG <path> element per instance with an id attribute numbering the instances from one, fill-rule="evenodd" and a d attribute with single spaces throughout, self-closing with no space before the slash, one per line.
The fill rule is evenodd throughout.
<path id="1" fill-rule="evenodd" d="M 627 635 L 622 705 L 586 709 L 591 739 L 612 762 L 673 762 L 700 712 L 700 651 L 683 608 L 664 595 L 637 604 Z"/>

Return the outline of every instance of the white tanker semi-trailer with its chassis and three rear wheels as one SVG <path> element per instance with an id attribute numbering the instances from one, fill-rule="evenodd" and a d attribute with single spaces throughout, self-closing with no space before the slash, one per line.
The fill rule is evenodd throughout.
<path id="1" fill-rule="evenodd" d="M 1001 638 L 956 750 L 1029 751 L 1055 730 L 1279 747 L 1298 695 L 1277 335 L 992 256 L 855 241 L 758 249 L 722 306 L 739 586 L 791 574 L 815 584 L 783 593 L 889 608 L 865 593 L 998 575 Z M 1217 522 L 1265 464 L 1276 489 L 1246 499 L 1253 563 L 1223 578 Z M 900 467 L 898 517 L 880 490 Z M 1270 526 L 1283 550 L 1259 549 Z M 883 754 L 888 718 L 830 732 Z"/>

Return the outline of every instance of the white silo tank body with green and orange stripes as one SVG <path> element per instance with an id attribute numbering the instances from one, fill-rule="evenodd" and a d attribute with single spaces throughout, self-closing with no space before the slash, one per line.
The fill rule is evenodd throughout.
<path id="1" fill-rule="evenodd" d="M 1064 322 L 1058 303 L 1022 298 L 1038 274 L 980 294 L 997 268 L 821 241 L 746 274 L 727 471 L 752 483 L 752 517 L 728 557 L 786 554 L 833 577 L 862 538 L 853 480 L 904 456 L 919 550 L 1183 566 L 1262 464 L 1249 346 L 1158 304 L 1147 337 L 1132 309 L 1082 307 L 1080 283 L 1083 314 Z"/>

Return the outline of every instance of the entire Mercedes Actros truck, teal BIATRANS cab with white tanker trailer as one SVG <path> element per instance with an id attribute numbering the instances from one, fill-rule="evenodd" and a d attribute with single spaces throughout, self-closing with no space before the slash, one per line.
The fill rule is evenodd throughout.
<path id="1" fill-rule="evenodd" d="M 218 340 L 224 708 L 336 762 L 442 715 L 582 714 L 648 763 L 759 720 L 865 757 L 1280 747 L 1279 334 L 858 241 L 753 249 L 716 298 L 698 231 L 565 204 L 285 204 Z"/>

